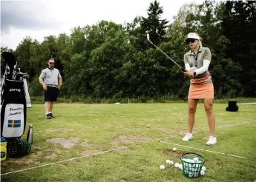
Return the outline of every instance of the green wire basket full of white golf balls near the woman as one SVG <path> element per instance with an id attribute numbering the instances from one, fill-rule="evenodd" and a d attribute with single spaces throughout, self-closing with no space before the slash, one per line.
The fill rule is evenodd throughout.
<path id="1" fill-rule="evenodd" d="M 184 159 L 198 158 L 199 162 L 188 162 Z M 204 158 L 194 152 L 188 152 L 181 156 L 181 164 L 183 165 L 183 175 L 189 178 L 197 178 L 200 176 L 201 169 L 205 163 Z"/>

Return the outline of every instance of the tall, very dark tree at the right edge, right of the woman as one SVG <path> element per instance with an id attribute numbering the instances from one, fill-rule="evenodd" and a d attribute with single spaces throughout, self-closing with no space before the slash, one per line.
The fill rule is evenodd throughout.
<path id="1" fill-rule="evenodd" d="M 246 96 L 256 95 L 256 2 L 226 1 L 221 27 L 229 39 L 226 57 L 239 63 L 243 70 L 237 81 L 243 84 Z"/>

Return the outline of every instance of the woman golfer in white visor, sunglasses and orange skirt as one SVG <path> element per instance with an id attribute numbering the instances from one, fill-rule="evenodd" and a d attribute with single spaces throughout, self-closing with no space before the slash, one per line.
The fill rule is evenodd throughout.
<path id="1" fill-rule="evenodd" d="M 193 138 L 194 113 L 198 100 L 203 99 L 210 129 L 210 137 L 206 145 L 214 145 L 217 143 L 214 133 L 215 116 L 212 110 L 214 87 L 208 70 L 211 63 L 211 51 L 208 47 L 202 46 L 201 40 L 197 33 L 188 33 L 186 38 L 186 43 L 191 50 L 184 55 L 184 64 L 187 70 L 184 74 L 191 78 L 191 83 L 188 92 L 188 133 L 183 141 L 190 141 Z"/>

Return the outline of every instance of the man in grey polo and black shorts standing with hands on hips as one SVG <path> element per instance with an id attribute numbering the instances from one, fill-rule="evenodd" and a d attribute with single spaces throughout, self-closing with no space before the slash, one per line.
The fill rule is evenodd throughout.
<path id="1" fill-rule="evenodd" d="M 54 68 L 54 59 L 47 61 L 48 67 L 42 70 L 39 82 L 45 90 L 45 118 L 55 118 L 53 116 L 53 102 L 57 101 L 60 87 L 62 87 L 62 76 L 59 70 Z"/>

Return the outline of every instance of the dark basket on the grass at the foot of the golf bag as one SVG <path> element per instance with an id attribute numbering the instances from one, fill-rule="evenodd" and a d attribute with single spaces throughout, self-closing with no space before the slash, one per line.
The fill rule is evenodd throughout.
<path id="1" fill-rule="evenodd" d="M 21 138 L 14 138 L 12 141 L 7 142 L 7 153 L 10 158 L 19 158 L 22 155 L 27 155 L 30 149 L 31 144 Z"/>

